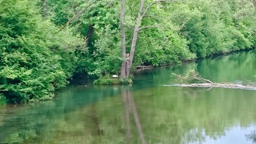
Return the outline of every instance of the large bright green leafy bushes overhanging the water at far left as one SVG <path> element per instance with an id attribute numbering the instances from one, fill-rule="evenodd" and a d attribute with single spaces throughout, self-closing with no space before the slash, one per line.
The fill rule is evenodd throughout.
<path id="1" fill-rule="evenodd" d="M 72 29 L 39 15 L 35 0 L 4 0 L 0 8 L 0 91 L 9 103 L 46 100 L 76 70 L 85 47 Z M 84 49 L 86 50 L 86 49 Z"/>

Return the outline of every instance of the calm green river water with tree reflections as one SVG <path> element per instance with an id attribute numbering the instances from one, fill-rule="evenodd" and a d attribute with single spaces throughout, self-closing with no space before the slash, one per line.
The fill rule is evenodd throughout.
<path id="1" fill-rule="evenodd" d="M 171 73 L 189 68 L 251 84 L 255 66 L 251 50 L 137 70 L 128 86 L 73 80 L 53 100 L 0 107 L 0 144 L 256 143 L 255 90 L 168 86 Z"/>

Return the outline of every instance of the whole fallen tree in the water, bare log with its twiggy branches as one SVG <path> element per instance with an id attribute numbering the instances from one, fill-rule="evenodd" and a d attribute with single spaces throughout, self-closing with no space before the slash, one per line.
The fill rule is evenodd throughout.
<path id="1" fill-rule="evenodd" d="M 225 87 L 225 88 L 239 88 L 239 89 L 254 89 L 256 90 L 256 85 L 242 85 L 242 84 L 232 84 L 232 83 L 213 83 L 208 79 L 204 79 L 198 73 L 196 69 L 189 69 L 185 74 L 175 74 L 172 73 L 176 78 L 172 86 L 182 86 L 182 87 Z"/>

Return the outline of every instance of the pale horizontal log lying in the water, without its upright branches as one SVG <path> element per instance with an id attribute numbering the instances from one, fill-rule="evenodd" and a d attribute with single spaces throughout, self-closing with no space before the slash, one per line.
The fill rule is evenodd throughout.
<path id="1" fill-rule="evenodd" d="M 204 83 L 204 84 L 175 84 L 164 86 L 182 86 L 182 87 L 224 87 L 224 88 L 239 88 L 256 90 L 256 85 L 241 85 L 241 84 L 219 84 L 219 83 Z"/>

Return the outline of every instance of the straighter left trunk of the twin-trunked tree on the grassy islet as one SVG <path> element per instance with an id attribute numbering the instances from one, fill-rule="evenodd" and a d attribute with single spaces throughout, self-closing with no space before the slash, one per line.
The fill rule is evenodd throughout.
<path id="1" fill-rule="evenodd" d="M 121 27 L 121 37 L 122 37 L 122 66 L 120 78 L 124 79 L 127 77 L 126 67 L 126 48 L 125 48 L 125 28 L 124 28 L 124 13 L 125 13 L 125 0 L 121 0 L 121 14 L 120 14 L 120 27 Z"/>

